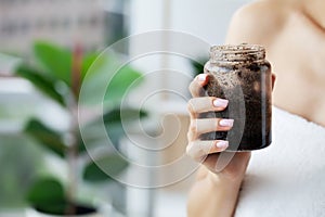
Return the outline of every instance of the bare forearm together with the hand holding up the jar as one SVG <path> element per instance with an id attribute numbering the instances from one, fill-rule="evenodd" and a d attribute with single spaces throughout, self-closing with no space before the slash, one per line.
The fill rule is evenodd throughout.
<path id="1" fill-rule="evenodd" d="M 200 76 L 202 77 L 202 76 Z M 236 153 L 230 164 L 219 170 L 216 168 L 216 163 L 219 158 L 219 153 L 227 148 L 218 145 L 221 141 L 199 141 L 198 136 L 203 131 L 202 124 L 193 127 L 193 123 L 197 122 L 196 117 L 202 111 L 221 111 L 224 106 L 214 106 L 213 101 L 218 100 L 209 97 L 199 97 L 200 88 L 206 85 L 206 80 L 194 79 L 190 86 L 194 99 L 188 102 L 188 111 L 191 114 L 191 127 L 188 130 L 187 154 L 194 159 L 200 162 L 202 157 L 206 157 L 200 162 L 203 166 L 197 173 L 196 181 L 190 192 L 187 203 L 188 217 L 227 217 L 233 216 L 240 182 L 244 178 L 245 170 L 250 157 L 249 152 Z M 202 120 L 199 120 L 202 122 Z M 218 126 L 220 119 L 216 119 L 216 125 L 209 130 L 216 131 L 222 128 Z M 207 129 L 205 129 L 207 130 Z"/>

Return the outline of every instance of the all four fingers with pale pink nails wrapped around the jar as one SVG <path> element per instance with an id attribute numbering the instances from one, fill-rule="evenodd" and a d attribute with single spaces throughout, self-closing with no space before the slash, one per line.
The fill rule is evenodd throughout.
<path id="1" fill-rule="evenodd" d="M 199 140 L 199 136 L 211 131 L 227 131 L 233 127 L 233 119 L 198 118 L 199 114 L 206 112 L 223 111 L 229 101 L 214 97 L 208 97 L 204 87 L 209 81 L 209 75 L 200 74 L 191 82 L 188 89 L 193 99 L 188 101 L 187 110 L 191 115 L 191 125 L 187 133 L 188 144 L 186 153 L 193 159 L 208 164 L 210 158 L 218 158 L 219 153 L 226 150 L 229 142 L 224 140 Z"/>

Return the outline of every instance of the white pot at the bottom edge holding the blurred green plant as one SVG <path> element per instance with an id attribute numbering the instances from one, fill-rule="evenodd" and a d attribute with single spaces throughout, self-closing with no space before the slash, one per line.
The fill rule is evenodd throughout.
<path id="1" fill-rule="evenodd" d="M 26 217 L 104 217 L 101 212 L 87 206 L 77 206 L 76 215 L 48 214 L 37 208 L 30 207 L 26 210 Z"/>

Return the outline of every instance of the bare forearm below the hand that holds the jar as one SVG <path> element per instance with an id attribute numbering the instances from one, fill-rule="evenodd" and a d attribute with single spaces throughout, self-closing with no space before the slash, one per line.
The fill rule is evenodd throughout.
<path id="1" fill-rule="evenodd" d="M 187 203 L 188 217 L 231 217 L 235 210 L 240 182 L 220 179 L 207 171 L 194 183 Z"/>

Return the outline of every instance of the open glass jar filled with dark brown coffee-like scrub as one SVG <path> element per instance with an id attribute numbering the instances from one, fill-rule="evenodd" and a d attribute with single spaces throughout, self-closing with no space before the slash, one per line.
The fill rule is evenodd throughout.
<path id="1" fill-rule="evenodd" d="M 227 151 L 252 151 L 271 144 L 272 74 L 265 49 L 257 44 L 214 46 L 205 64 L 207 95 L 229 100 L 222 112 L 203 118 L 232 118 L 230 131 L 209 132 L 203 140 L 227 140 Z"/>

